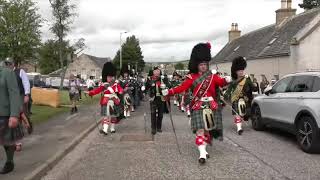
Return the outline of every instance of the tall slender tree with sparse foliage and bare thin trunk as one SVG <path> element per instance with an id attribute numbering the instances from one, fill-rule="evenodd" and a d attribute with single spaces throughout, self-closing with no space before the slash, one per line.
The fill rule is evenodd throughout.
<path id="1" fill-rule="evenodd" d="M 54 18 L 54 23 L 50 28 L 52 33 L 58 38 L 58 54 L 60 61 L 61 71 L 61 83 L 60 89 L 63 88 L 63 80 L 66 74 L 67 65 L 64 65 L 66 57 L 64 55 L 64 50 L 67 49 L 64 43 L 64 38 L 67 33 L 71 30 L 71 24 L 73 23 L 73 17 L 76 15 L 74 13 L 75 5 L 71 4 L 71 0 L 49 0 L 52 8 L 52 14 Z M 67 61 L 68 62 L 68 61 Z"/>

